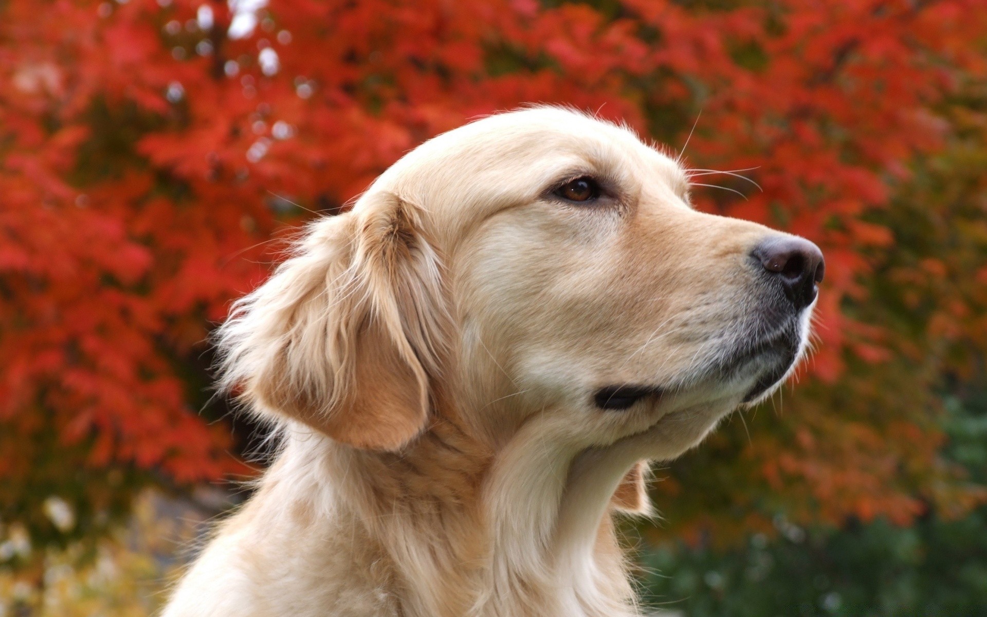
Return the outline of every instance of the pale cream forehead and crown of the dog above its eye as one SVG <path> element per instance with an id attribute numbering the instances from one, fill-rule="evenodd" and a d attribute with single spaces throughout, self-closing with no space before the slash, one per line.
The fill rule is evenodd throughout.
<path id="1" fill-rule="evenodd" d="M 629 128 L 542 107 L 488 116 L 438 135 L 395 163 L 371 191 L 392 191 L 436 215 L 461 218 L 537 198 L 578 174 L 677 198 L 688 186 L 676 161 Z M 449 206 L 458 209 L 441 211 Z"/>

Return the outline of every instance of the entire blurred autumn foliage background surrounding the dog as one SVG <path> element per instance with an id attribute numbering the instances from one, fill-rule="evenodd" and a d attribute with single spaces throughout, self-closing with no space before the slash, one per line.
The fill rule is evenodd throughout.
<path id="1" fill-rule="evenodd" d="M 982 0 L 0 0 L 0 616 L 153 613 L 264 467 L 210 398 L 230 300 L 533 102 L 685 147 L 700 208 L 827 257 L 797 388 L 626 525 L 648 606 L 987 615 L 985 51 Z"/>

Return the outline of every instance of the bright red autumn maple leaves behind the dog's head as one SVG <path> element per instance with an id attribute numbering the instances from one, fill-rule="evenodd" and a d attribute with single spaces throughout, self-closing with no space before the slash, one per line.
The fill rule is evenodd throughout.
<path id="1" fill-rule="evenodd" d="M 987 71 L 980 0 L 0 6 L 0 482 L 26 487 L 8 504 L 34 499 L 24 479 L 53 454 L 64 478 L 41 493 L 76 469 L 240 471 L 189 373 L 276 260 L 268 241 L 337 211 L 423 139 L 530 102 L 673 147 L 695 121 L 690 165 L 763 188 L 706 176 L 746 198 L 702 190 L 700 206 L 827 255 L 811 374 L 842 379 L 848 354 L 884 361 L 881 326 L 841 312 L 867 293 L 868 250 L 893 242 L 865 215 L 942 144 L 936 106 Z M 836 410 L 804 438 L 755 430 L 736 493 L 797 476 L 809 489 L 794 500 L 827 503 L 816 515 L 907 519 L 920 508 L 903 494 L 861 500 L 884 477 L 867 453 L 902 434 L 926 454 L 889 448 L 886 473 L 934 464 L 941 437 L 915 425 Z M 849 458 L 818 454 L 812 434 L 843 439 Z"/>

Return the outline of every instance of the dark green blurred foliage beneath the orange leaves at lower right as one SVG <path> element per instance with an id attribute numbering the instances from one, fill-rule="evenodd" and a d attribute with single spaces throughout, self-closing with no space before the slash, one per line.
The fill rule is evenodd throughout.
<path id="1" fill-rule="evenodd" d="M 947 399 L 946 451 L 971 478 L 987 474 L 987 380 Z M 773 536 L 717 551 L 682 542 L 645 550 L 648 603 L 689 617 L 987 614 L 987 507 L 915 525 L 884 518 L 804 530 L 779 516 Z M 770 539 L 769 539 L 770 538 Z"/>

